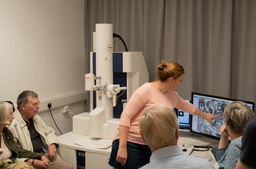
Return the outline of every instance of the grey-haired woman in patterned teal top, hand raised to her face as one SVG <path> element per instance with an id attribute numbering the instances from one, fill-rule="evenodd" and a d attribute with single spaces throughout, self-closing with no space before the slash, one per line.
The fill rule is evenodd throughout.
<path id="1" fill-rule="evenodd" d="M 219 168 L 234 169 L 236 167 L 244 128 L 253 118 L 252 109 L 242 101 L 233 101 L 226 106 L 223 114 L 225 124 L 220 130 L 219 145 L 211 149 Z"/>

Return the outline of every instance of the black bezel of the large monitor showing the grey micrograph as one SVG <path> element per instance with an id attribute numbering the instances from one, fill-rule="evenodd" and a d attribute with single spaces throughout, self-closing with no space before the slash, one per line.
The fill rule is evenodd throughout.
<path id="1" fill-rule="evenodd" d="M 193 104 L 193 96 L 194 95 L 200 95 L 200 96 L 206 96 L 206 97 L 212 97 L 212 98 L 215 98 L 215 99 L 223 99 L 223 100 L 230 100 L 230 101 L 242 101 L 242 102 L 247 103 L 247 104 L 252 104 L 252 111 L 254 112 L 254 116 L 255 116 L 255 102 L 253 102 L 253 101 L 246 101 L 246 100 L 241 100 L 241 99 L 233 99 L 233 98 L 229 98 L 229 97 L 207 95 L 207 94 L 203 94 L 203 93 L 192 92 L 191 93 L 191 104 Z M 192 132 L 192 133 L 195 133 L 195 134 L 198 134 L 198 135 L 202 135 L 204 137 L 212 138 L 212 139 L 215 139 L 215 140 L 218 140 L 218 141 L 221 139 L 220 137 L 217 137 L 217 136 L 214 136 L 214 135 L 193 131 L 192 130 L 192 120 L 193 120 L 193 115 L 190 116 L 189 132 Z"/>

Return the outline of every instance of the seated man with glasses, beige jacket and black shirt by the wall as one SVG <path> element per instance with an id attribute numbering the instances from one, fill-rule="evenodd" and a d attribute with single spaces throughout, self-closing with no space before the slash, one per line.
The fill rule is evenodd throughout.
<path id="1" fill-rule="evenodd" d="M 10 130 L 14 135 L 17 144 L 29 151 L 48 154 L 49 164 L 40 160 L 29 159 L 34 168 L 61 168 L 73 169 L 68 162 L 60 160 L 56 151 L 59 141 L 55 130 L 43 122 L 37 115 L 40 108 L 40 101 L 37 93 L 23 91 L 17 99 L 18 111 L 15 111 L 16 119 L 12 122 Z"/>

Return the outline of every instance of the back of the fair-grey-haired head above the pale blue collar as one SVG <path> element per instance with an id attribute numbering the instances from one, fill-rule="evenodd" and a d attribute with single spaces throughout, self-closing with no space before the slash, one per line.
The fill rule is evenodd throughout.
<path id="1" fill-rule="evenodd" d="M 176 142 L 178 119 L 176 113 L 165 105 L 155 105 L 145 111 L 139 127 L 150 148 L 159 149 Z"/>

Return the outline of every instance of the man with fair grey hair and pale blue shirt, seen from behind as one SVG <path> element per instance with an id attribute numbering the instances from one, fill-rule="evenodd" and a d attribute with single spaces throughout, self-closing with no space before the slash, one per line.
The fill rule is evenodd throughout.
<path id="1" fill-rule="evenodd" d="M 186 155 L 177 146 L 178 119 L 169 107 L 150 107 L 140 118 L 139 127 L 152 151 L 150 163 L 140 169 L 213 169 L 210 162 Z"/>

